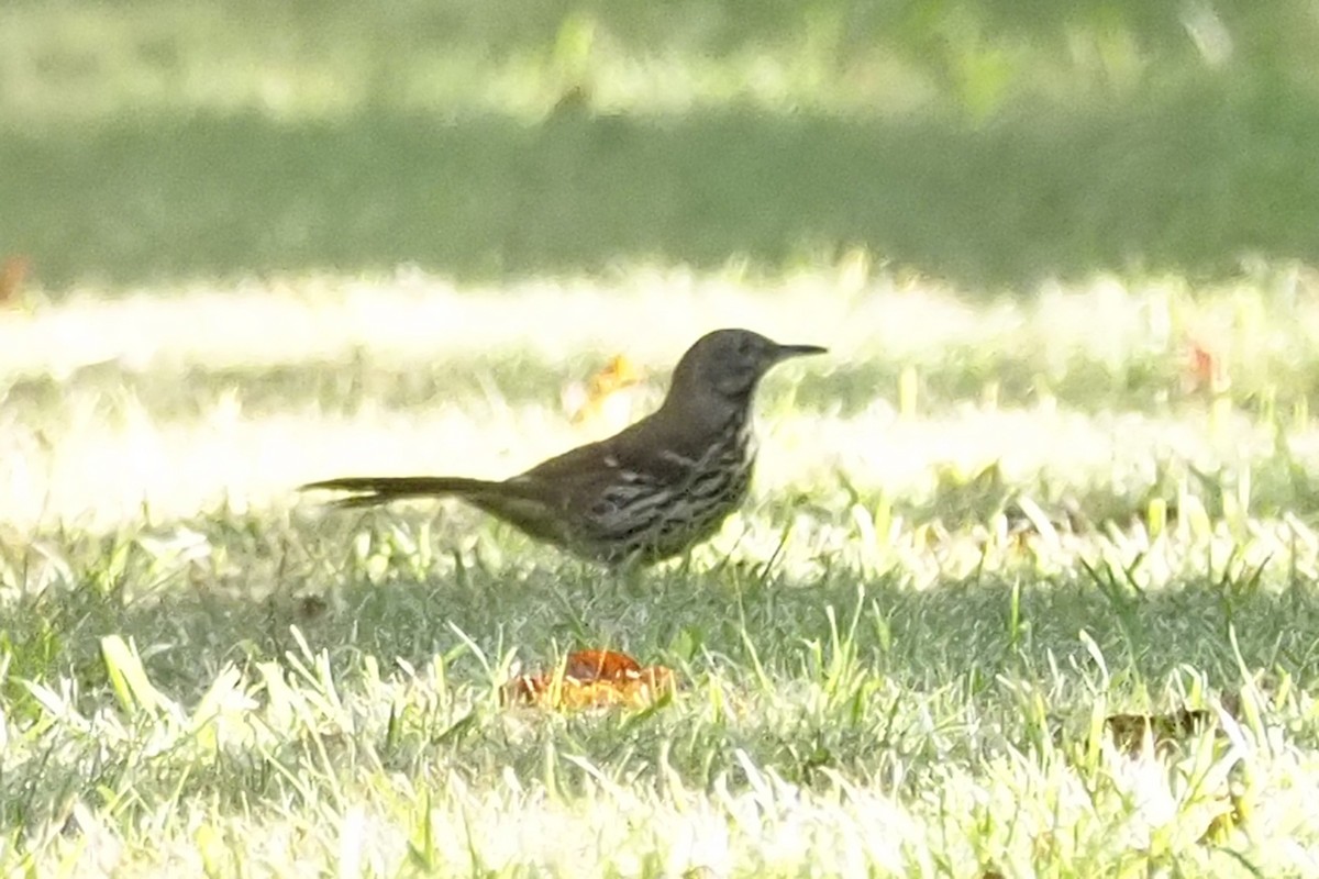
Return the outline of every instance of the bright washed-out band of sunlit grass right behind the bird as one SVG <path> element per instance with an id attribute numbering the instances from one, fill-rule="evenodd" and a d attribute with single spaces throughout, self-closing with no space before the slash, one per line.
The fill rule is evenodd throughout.
<path id="1" fill-rule="evenodd" d="M 1138 505 L 1191 465 L 1256 468 L 1257 501 L 1277 509 L 1293 499 L 1287 468 L 1315 453 L 1297 406 L 1319 312 L 1299 294 L 1266 314 L 1244 290 L 1192 303 L 1167 283 L 989 306 L 882 275 L 847 297 L 836 283 L 638 273 L 495 294 L 404 275 L 38 303 L 0 324 L 4 515 L 284 506 L 290 486 L 339 470 L 512 473 L 653 407 L 667 366 L 718 326 L 831 348 L 766 383 L 766 492 L 845 485 L 923 503 L 940 473 L 997 465 L 1050 501 L 1099 488 Z M 1195 347 L 1231 387 L 1195 373 Z M 571 424 L 566 386 L 611 353 L 646 381 L 608 423 Z"/>

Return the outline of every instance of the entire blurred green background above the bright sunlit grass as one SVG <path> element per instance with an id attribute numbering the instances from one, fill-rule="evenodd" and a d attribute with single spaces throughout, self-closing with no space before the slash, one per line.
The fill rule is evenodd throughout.
<path id="1" fill-rule="evenodd" d="M 955 285 L 1319 257 L 1315 0 L 7 0 L 0 252 Z"/>

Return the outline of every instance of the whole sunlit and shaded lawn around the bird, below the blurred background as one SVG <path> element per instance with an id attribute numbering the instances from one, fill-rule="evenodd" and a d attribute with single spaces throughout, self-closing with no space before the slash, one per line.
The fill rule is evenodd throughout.
<path id="1" fill-rule="evenodd" d="M 280 322 L 204 336 L 179 322 L 237 294 L 7 315 L 5 868 L 1306 872 L 1315 428 L 1264 364 L 1312 369 L 1308 297 L 983 306 L 876 295 L 880 274 L 819 304 L 832 283 L 539 282 L 497 327 L 491 297 L 423 275 L 252 290 L 248 318 Z M 703 323 L 671 316 L 683 285 L 835 344 L 766 383 L 754 501 L 690 559 L 619 579 L 458 507 L 328 514 L 289 490 L 499 474 L 607 430 L 571 426 L 562 386 L 611 337 L 653 401 Z M 427 308 L 447 320 L 426 333 L 393 316 Z M 538 339 L 565 308 L 582 319 Z M 94 364 L 44 341 L 84 322 Z M 1219 403 L 1186 383 L 1192 329 L 1224 352 Z M 935 349 L 979 356 L 956 373 Z M 939 393 L 1014 362 L 1064 393 Z M 501 704 L 518 669 L 596 646 L 683 687 L 641 710 Z M 1104 734 L 1183 706 L 1220 731 L 1134 754 Z"/>

